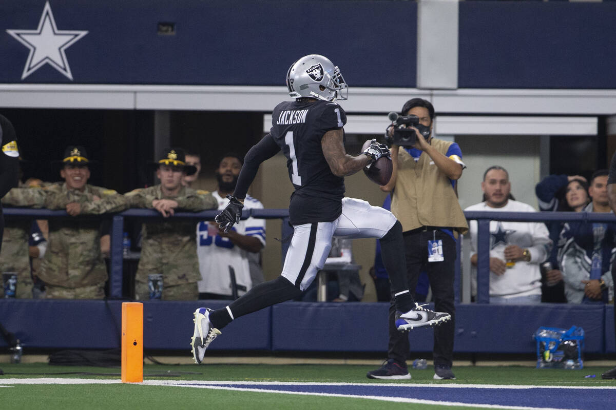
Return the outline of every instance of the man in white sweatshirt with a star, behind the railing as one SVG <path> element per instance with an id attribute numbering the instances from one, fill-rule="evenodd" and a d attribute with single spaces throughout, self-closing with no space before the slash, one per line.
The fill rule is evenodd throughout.
<path id="1" fill-rule="evenodd" d="M 509 199 L 509 173 L 495 165 L 481 183 L 484 202 L 466 211 L 535 212 L 527 203 Z M 471 264 L 477 266 L 477 221 L 471 221 Z M 549 232 L 543 223 L 490 221 L 490 303 L 541 302 L 539 264 L 549 256 Z"/>

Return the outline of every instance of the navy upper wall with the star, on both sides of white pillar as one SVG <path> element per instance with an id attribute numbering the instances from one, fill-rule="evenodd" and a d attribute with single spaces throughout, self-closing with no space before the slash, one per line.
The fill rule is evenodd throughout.
<path id="1" fill-rule="evenodd" d="M 30 50 L 7 30 L 36 31 L 44 4 L 2 2 L 0 83 L 284 85 L 321 53 L 351 87 L 416 87 L 415 1 L 52 1 L 57 30 L 87 31 L 65 50 L 73 80 L 22 79 Z M 461 1 L 458 87 L 615 89 L 615 20 L 609 1 Z"/>

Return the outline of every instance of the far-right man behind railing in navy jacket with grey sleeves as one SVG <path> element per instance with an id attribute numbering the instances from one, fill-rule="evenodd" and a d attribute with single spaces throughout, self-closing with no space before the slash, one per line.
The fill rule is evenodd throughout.
<path id="1" fill-rule="evenodd" d="M 609 171 L 599 170 L 590 179 L 592 202 L 586 212 L 610 212 L 607 199 Z M 614 261 L 614 223 L 571 221 L 562 228 L 558 258 L 569 303 L 607 303 L 614 298 L 610 269 Z"/>

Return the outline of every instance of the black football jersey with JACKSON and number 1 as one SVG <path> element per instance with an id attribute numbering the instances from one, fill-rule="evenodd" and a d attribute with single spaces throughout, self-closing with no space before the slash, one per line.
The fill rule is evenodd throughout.
<path id="1" fill-rule="evenodd" d="M 340 216 L 344 178 L 331 172 L 321 140 L 344 124 L 344 109 L 329 101 L 284 101 L 274 108 L 270 134 L 286 156 L 295 187 L 289 206 L 291 224 L 331 222 Z"/>

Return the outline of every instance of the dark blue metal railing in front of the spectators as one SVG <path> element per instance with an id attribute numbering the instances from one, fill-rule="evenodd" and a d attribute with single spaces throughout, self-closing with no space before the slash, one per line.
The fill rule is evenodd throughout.
<path id="1" fill-rule="evenodd" d="M 249 211 L 249 213 L 248 213 Z M 219 211 L 209 210 L 202 212 L 177 212 L 171 219 L 185 218 L 199 221 L 213 220 Z M 248 215 L 246 215 L 248 213 Z M 75 218 L 69 216 L 66 211 L 52 211 L 46 209 L 31 208 L 4 208 L 4 215 L 9 218 Z M 282 237 L 287 237 L 292 228 L 288 224 L 288 210 L 286 209 L 255 209 L 245 210 L 243 218 L 253 216 L 262 219 L 282 219 Z M 598 212 L 501 212 L 501 211 L 466 211 L 464 216 L 469 220 L 477 220 L 477 303 L 486 304 L 490 301 L 490 221 L 513 221 L 513 222 L 543 222 L 551 221 L 584 221 L 616 223 L 616 216 L 612 213 Z M 163 218 L 158 211 L 146 209 L 129 209 L 121 213 L 78 216 L 77 218 L 111 218 L 111 245 L 110 245 L 110 277 L 109 296 L 112 299 L 123 297 L 123 250 L 122 239 L 124 233 L 124 219 L 160 219 Z M 283 243 L 283 258 L 288 248 L 288 242 Z M 459 301 L 458 290 L 460 289 L 460 241 L 458 241 L 458 263 L 456 263 L 455 289 L 456 301 Z"/>

